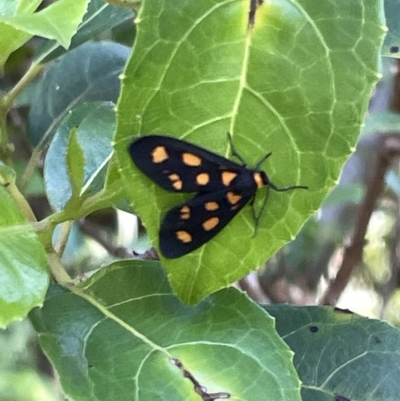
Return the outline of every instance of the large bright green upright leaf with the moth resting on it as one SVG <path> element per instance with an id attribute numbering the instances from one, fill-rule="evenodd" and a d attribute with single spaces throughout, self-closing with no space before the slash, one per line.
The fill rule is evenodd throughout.
<path id="1" fill-rule="evenodd" d="M 117 156 L 155 246 L 161 219 L 185 198 L 156 187 L 133 165 L 126 149 L 134 135 L 164 133 L 230 157 L 230 132 L 250 166 L 272 152 L 262 167 L 277 186 L 309 187 L 269 191 L 255 237 L 248 206 L 197 251 L 162 258 L 174 290 L 189 303 L 242 277 L 294 237 L 353 151 L 378 79 L 381 1 L 269 1 L 258 7 L 251 30 L 248 5 L 144 2 L 118 104 Z"/>

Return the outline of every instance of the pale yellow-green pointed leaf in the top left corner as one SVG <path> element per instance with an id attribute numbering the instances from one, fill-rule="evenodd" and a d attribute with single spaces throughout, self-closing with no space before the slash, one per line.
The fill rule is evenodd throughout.
<path id="1" fill-rule="evenodd" d="M 71 37 L 86 12 L 88 2 L 89 0 L 58 0 L 34 14 L 31 12 L 13 16 L 0 14 L 0 22 L 31 36 L 56 39 L 62 46 L 68 48 Z"/>

